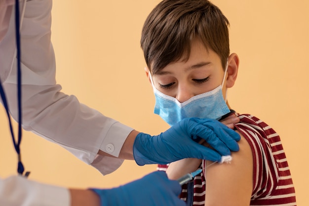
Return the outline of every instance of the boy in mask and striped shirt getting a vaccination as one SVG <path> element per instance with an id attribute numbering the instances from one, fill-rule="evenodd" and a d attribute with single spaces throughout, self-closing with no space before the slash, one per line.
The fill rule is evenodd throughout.
<path id="1" fill-rule="evenodd" d="M 203 169 L 183 186 L 188 206 L 296 206 L 279 135 L 258 118 L 237 114 L 226 99 L 239 65 L 237 54 L 230 54 L 228 25 L 207 0 L 163 0 L 144 24 L 141 47 L 155 114 L 170 125 L 187 117 L 240 118 L 240 150 L 232 153 L 231 164 L 185 159 L 159 167 L 172 179 Z"/>

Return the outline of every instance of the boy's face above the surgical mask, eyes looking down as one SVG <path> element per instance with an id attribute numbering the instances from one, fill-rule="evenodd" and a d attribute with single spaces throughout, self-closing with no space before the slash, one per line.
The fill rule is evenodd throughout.
<path id="1" fill-rule="evenodd" d="M 218 87 L 223 81 L 224 69 L 218 54 L 211 49 L 207 51 L 200 41 L 193 41 L 188 61 L 170 63 L 152 78 L 156 89 L 183 103 Z M 146 73 L 150 78 L 148 69 Z M 222 92 L 225 97 L 226 80 Z"/>

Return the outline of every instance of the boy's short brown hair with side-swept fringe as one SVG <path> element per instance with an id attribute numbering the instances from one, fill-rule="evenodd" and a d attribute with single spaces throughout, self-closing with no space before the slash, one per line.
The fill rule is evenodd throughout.
<path id="1" fill-rule="evenodd" d="M 141 47 L 152 74 L 169 63 L 190 56 L 195 39 L 211 48 L 225 68 L 230 54 L 229 21 L 221 10 L 208 0 L 163 0 L 147 17 Z"/>

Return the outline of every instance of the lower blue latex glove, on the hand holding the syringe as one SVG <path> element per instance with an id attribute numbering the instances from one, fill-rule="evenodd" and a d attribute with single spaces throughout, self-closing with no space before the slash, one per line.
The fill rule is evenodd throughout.
<path id="1" fill-rule="evenodd" d="M 90 189 L 101 199 L 101 206 L 185 206 L 178 198 L 181 186 L 169 180 L 164 171 L 113 189 Z"/>

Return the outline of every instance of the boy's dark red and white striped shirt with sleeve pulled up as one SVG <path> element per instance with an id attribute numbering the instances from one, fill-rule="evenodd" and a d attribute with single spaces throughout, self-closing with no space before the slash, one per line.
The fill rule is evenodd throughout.
<path id="1" fill-rule="evenodd" d="M 253 190 L 250 206 L 296 206 L 295 189 L 279 135 L 266 123 L 252 115 L 238 115 L 235 128 L 248 141 L 253 154 Z M 205 168 L 206 161 L 201 167 Z M 167 165 L 158 165 L 166 170 Z M 193 206 L 205 202 L 204 173 L 193 180 Z M 180 195 L 187 200 L 187 184 Z"/>

